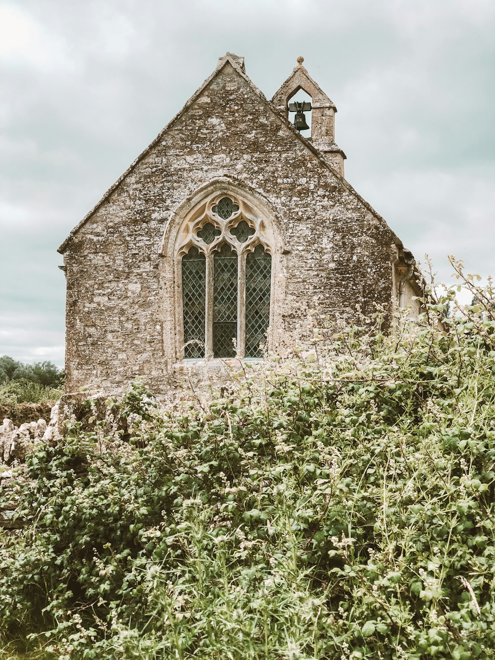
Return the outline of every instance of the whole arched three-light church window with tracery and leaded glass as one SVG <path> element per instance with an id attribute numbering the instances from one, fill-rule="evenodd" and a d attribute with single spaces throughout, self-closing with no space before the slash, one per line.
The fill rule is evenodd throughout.
<path id="1" fill-rule="evenodd" d="M 184 358 L 260 358 L 267 342 L 271 249 L 241 200 L 218 195 L 187 223 L 180 249 Z"/>

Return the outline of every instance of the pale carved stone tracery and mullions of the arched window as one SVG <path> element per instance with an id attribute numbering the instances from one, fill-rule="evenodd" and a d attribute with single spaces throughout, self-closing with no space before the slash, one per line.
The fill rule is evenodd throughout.
<path id="1" fill-rule="evenodd" d="M 229 197 L 232 202 L 238 205 L 238 211 L 234 211 L 231 216 L 224 219 L 213 211 L 220 199 Z M 230 230 L 238 226 L 240 222 L 247 222 L 249 227 L 254 230 L 254 234 L 249 236 L 245 242 L 240 242 L 236 236 L 230 233 Z M 205 243 L 197 236 L 198 232 L 207 224 L 213 224 L 220 234 L 210 243 Z M 184 362 L 205 360 L 213 355 L 213 258 L 222 245 L 227 244 L 236 251 L 238 255 L 238 286 L 237 286 L 237 338 L 236 338 L 236 359 L 260 359 L 246 358 L 246 257 L 254 249 L 261 245 L 265 251 L 271 255 L 271 282 L 270 282 L 270 315 L 268 326 L 267 343 L 269 342 L 270 328 L 273 322 L 273 292 L 275 290 L 275 269 L 273 268 L 275 256 L 275 237 L 273 232 L 269 231 L 266 218 L 257 212 L 253 207 L 243 199 L 241 195 L 231 191 L 220 191 L 209 195 L 203 201 L 199 208 L 189 213 L 182 223 L 175 246 L 175 271 L 176 271 L 176 290 L 177 290 L 177 311 L 180 323 L 177 325 L 176 333 L 180 352 L 178 356 Z M 184 335 L 183 335 L 183 303 L 182 303 L 182 257 L 187 254 L 190 248 L 197 248 L 200 253 L 206 257 L 206 302 L 205 302 L 205 357 L 203 358 L 184 358 Z M 221 358 L 228 359 L 228 358 Z"/>

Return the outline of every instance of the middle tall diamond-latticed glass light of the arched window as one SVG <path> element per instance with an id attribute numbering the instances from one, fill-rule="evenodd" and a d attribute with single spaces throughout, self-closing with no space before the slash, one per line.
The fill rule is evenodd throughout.
<path id="1" fill-rule="evenodd" d="M 237 253 L 222 246 L 213 259 L 213 355 L 234 358 L 237 339 Z"/>

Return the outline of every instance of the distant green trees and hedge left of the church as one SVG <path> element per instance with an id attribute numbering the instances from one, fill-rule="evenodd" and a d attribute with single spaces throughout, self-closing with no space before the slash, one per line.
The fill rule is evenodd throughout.
<path id="1" fill-rule="evenodd" d="M 0 406 L 56 401 L 63 393 L 65 374 L 53 362 L 24 364 L 0 356 Z"/>

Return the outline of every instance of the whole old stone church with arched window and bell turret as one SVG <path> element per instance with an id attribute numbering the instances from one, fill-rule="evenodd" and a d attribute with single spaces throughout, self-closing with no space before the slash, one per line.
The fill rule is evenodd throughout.
<path id="1" fill-rule="evenodd" d="M 141 375 L 164 393 L 284 352 L 312 311 L 417 306 L 413 255 L 345 180 L 337 108 L 302 61 L 267 100 L 221 57 L 60 246 L 67 391 Z M 310 102 L 290 102 L 300 90 Z"/>

